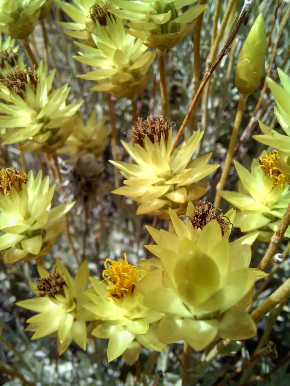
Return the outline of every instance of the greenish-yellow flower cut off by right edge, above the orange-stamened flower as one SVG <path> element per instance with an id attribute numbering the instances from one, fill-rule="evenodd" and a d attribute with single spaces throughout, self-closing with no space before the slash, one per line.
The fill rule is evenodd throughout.
<path id="1" fill-rule="evenodd" d="M 278 68 L 278 74 L 282 86 L 270 78 L 267 78 L 267 82 L 277 103 L 274 113 L 286 135 L 276 132 L 259 121 L 264 135 L 254 135 L 253 138 L 265 145 L 276 147 L 280 156 L 276 166 L 281 173 L 290 178 L 290 78 L 280 68 Z"/>

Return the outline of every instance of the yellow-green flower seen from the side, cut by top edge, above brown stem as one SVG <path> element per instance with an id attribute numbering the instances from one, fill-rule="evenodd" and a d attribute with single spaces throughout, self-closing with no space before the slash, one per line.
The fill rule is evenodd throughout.
<path id="1" fill-rule="evenodd" d="M 129 34 L 141 39 L 145 46 L 160 50 L 176 46 L 193 29 L 196 19 L 208 6 L 196 5 L 182 12 L 181 8 L 196 0 L 124 1 L 111 0 L 121 9 L 112 14 L 129 19 Z"/>

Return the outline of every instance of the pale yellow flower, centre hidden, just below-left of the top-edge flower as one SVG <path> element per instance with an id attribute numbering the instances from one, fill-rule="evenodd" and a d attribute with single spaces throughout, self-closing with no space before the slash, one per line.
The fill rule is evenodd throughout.
<path id="1" fill-rule="evenodd" d="M 142 41 L 128 35 L 121 19 L 107 17 L 106 27 L 97 21 L 92 39 L 96 47 L 76 42 L 87 53 L 78 52 L 79 56 L 73 57 L 99 68 L 78 76 L 98 82 L 90 90 L 105 91 L 116 98 L 132 98 L 146 88 L 151 77 L 147 71 L 155 59 L 156 51 L 147 51 Z"/>

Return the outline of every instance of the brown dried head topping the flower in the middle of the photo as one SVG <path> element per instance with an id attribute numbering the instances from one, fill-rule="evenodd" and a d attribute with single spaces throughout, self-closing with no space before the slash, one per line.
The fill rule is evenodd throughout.
<path id="1" fill-rule="evenodd" d="M 133 137 L 133 142 L 143 148 L 145 147 L 145 137 L 148 137 L 154 144 L 154 141 L 160 142 L 163 135 L 166 144 L 170 125 L 167 118 L 150 115 L 146 120 L 138 118 L 138 122 L 134 124 L 134 130 L 129 131 L 129 133 Z"/>

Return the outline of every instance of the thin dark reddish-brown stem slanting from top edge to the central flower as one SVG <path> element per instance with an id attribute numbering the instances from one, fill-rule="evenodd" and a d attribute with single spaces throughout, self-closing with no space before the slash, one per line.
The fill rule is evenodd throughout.
<path id="1" fill-rule="evenodd" d="M 251 5 L 252 5 L 252 0 L 245 0 L 244 6 L 243 6 L 242 11 L 241 11 L 241 14 L 239 15 L 239 19 L 237 20 L 237 23 L 235 24 L 235 27 L 232 30 L 232 33 L 230 34 L 229 39 L 227 40 L 227 42 L 226 42 L 225 46 L 223 47 L 222 51 L 220 51 L 220 53 L 218 54 L 217 58 L 213 62 L 212 66 L 210 67 L 208 72 L 203 77 L 203 80 L 201 81 L 200 86 L 199 86 L 198 90 L 196 91 L 196 94 L 194 95 L 194 98 L 193 98 L 193 100 L 191 102 L 191 105 L 189 107 L 189 110 L 186 113 L 186 116 L 185 116 L 185 118 L 184 118 L 184 120 L 183 120 L 183 122 L 181 124 L 181 127 L 178 130 L 178 133 L 176 135 L 176 139 L 175 139 L 174 144 L 172 146 L 171 154 L 174 152 L 174 149 L 176 148 L 176 146 L 177 146 L 177 144 L 179 142 L 179 139 L 181 138 L 181 135 L 183 134 L 183 130 L 185 129 L 185 126 L 188 123 L 190 115 L 193 112 L 194 107 L 195 107 L 196 103 L 198 102 L 198 100 L 199 100 L 199 98 L 201 96 L 203 88 L 205 87 L 206 83 L 208 82 L 208 80 L 212 76 L 213 71 L 215 71 L 215 69 L 217 68 L 218 64 L 222 60 L 222 58 L 230 51 L 230 48 L 231 48 L 230 45 L 232 44 L 232 41 L 234 40 L 235 36 L 237 35 L 237 32 L 238 32 L 239 28 L 241 27 L 242 21 L 246 17 L 247 12 L 249 11 Z"/>

